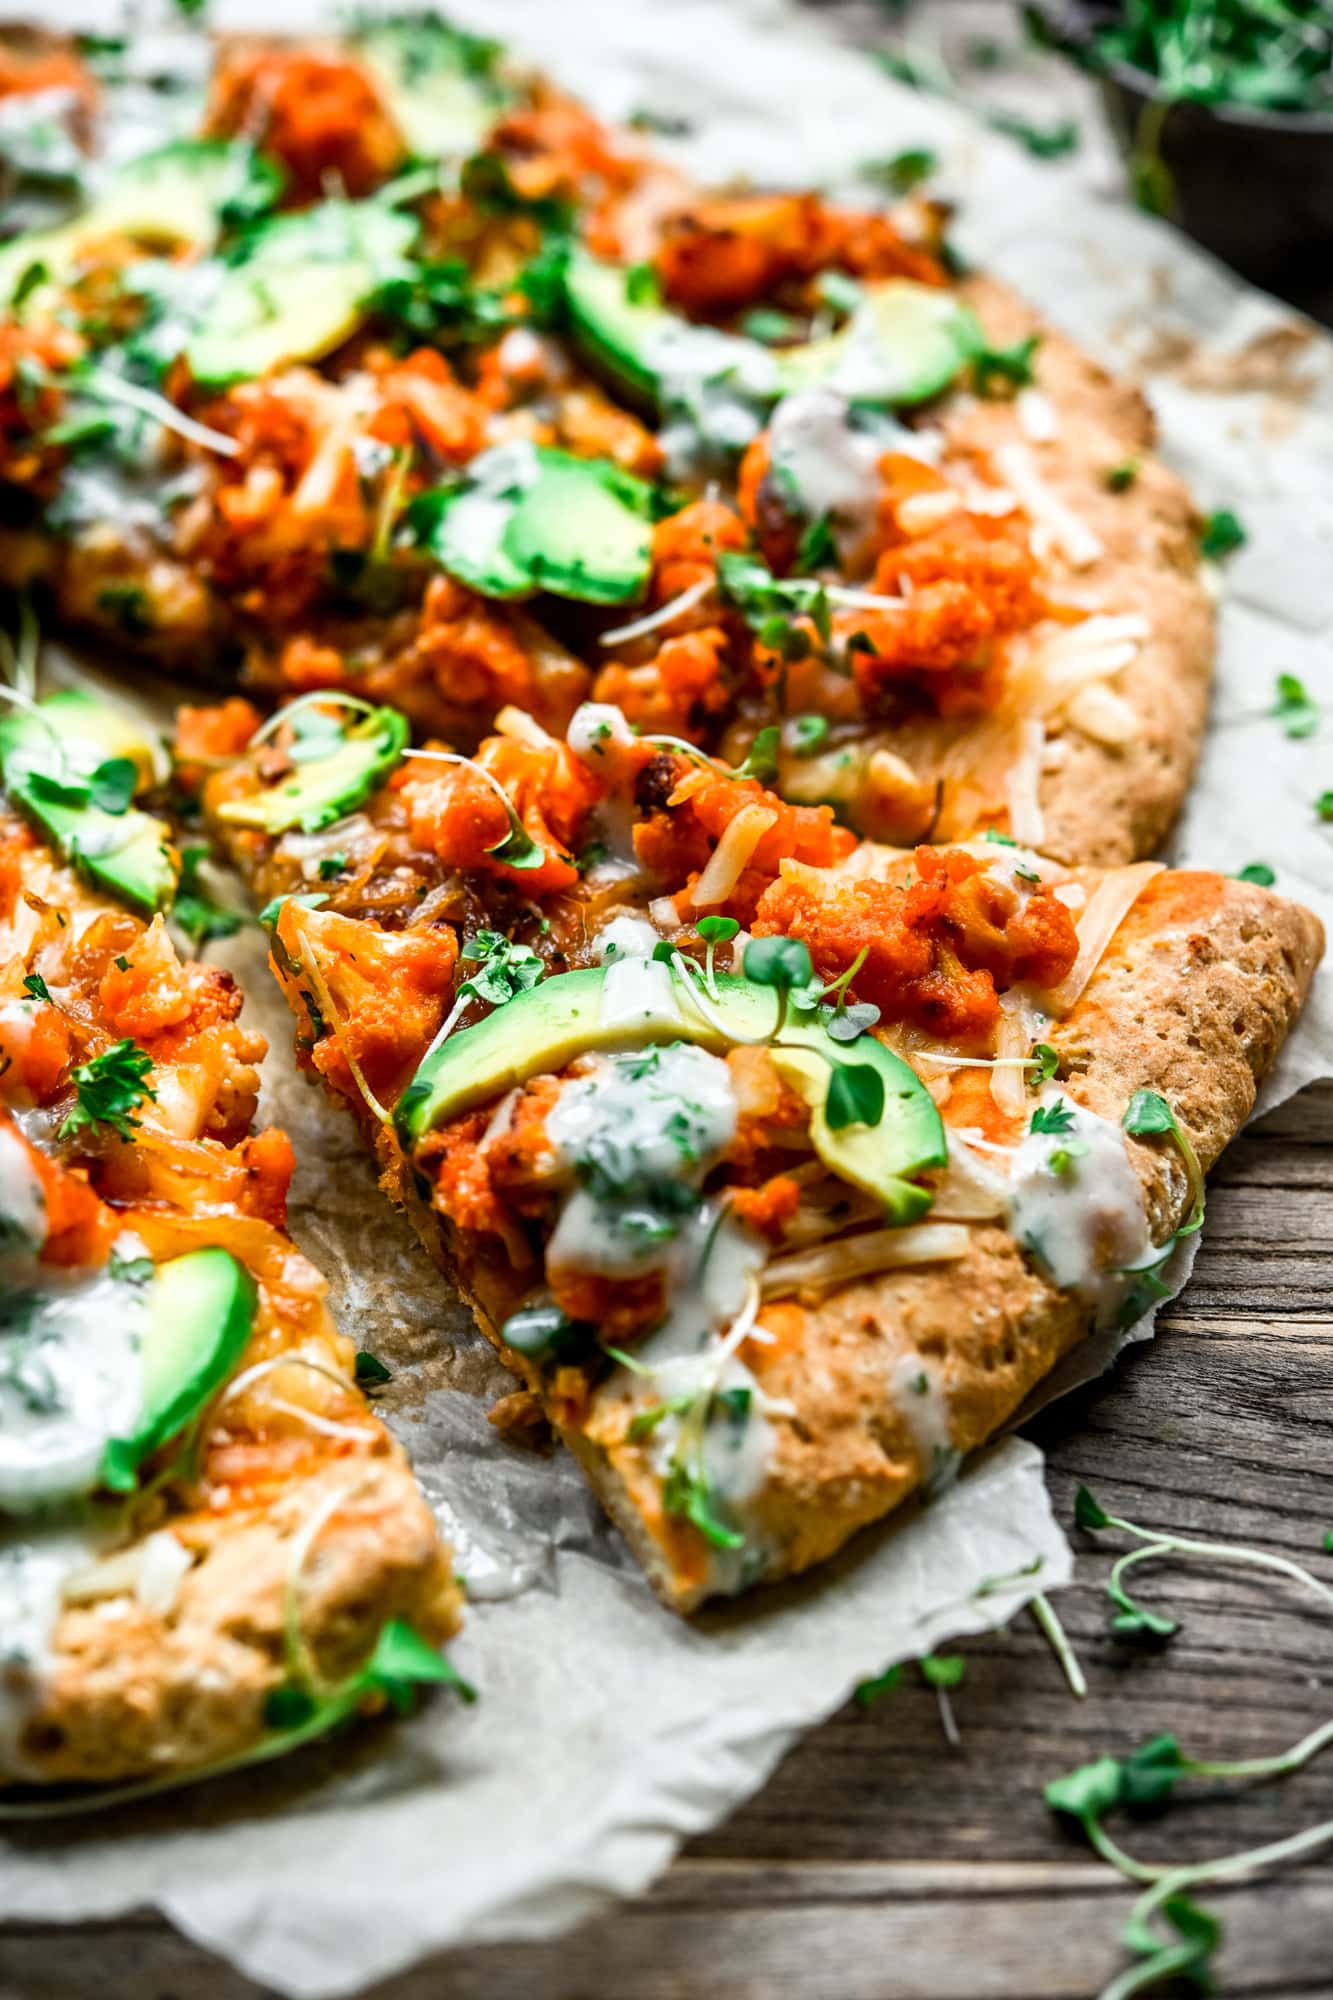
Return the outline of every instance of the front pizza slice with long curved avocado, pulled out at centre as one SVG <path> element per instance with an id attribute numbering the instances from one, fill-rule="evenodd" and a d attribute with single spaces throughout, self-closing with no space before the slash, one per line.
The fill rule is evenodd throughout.
<path id="1" fill-rule="evenodd" d="M 300 1060 L 679 1610 L 1165 1294 L 1323 948 L 1215 874 L 861 842 L 608 706 L 362 786 L 310 714 L 204 778 Z"/>

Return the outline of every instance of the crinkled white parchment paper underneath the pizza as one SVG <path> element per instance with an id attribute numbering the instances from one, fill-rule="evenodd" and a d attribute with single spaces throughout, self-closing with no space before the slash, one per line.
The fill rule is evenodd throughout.
<path id="1" fill-rule="evenodd" d="M 598 110 L 693 120 L 675 150 L 701 178 L 837 182 L 909 144 L 941 150 L 965 250 L 1139 372 L 1167 456 L 1203 506 L 1233 506 L 1251 534 L 1227 574 L 1215 720 L 1173 858 L 1265 860 L 1281 888 L 1333 914 L 1333 834 L 1311 808 L 1333 782 L 1327 734 L 1291 744 L 1263 720 L 1277 672 L 1333 700 L 1333 344 L 1299 322 L 1283 332 L 1289 312 L 1169 230 L 897 88 L 779 0 L 460 0 L 454 12 L 530 50 Z M 306 18 L 288 6 L 282 28 Z M 274 24 L 256 0 L 216 6 L 214 20 Z M 332 1278 L 342 1326 L 396 1366 L 384 1410 L 472 1586 L 452 1652 L 482 1698 L 472 1710 L 436 1700 L 408 1724 L 152 1806 L 10 1826 L 0 1920 L 152 1904 L 302 1996 L 354 1992 L 448 1944 L 542 1936 L 646 1886 L 859 1678 L 1003 1622 L 1069 1578 L 1041 1458 L 1011 1438 L 935 1506 L 815 1576 L 693 1624 L 669 1616 L 572 1462 L 486 1424 L 506 1378 L 376 1196 L 350 1124 L 292 1074 L 258 938 L 220 956 L 272 1040 L 264 1116 L 296 1140 L 294 1232 Z M 1329 1072 L 1323 994 L 1267 1102 Z M 1075 1368 L 1107 1360 L 1091 1348 Z M 977 1594 L 1035 1558 L 1039 1572 Z"/>

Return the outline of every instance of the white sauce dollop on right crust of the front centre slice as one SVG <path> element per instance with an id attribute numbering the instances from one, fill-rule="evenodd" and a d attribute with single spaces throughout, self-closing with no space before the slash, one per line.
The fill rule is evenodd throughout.
<path id="1" fill-rule="evenodd" d="M 1013 1150 L 1009 1228 L 1053 1284 L 1109 1320 L 1127 1290 L 1121 1272 L 1153 1256 L 1143 1188 L 1119 1124 L 1055 1084 L 1041 1104 L 1065 1104 L 1073 1122 L 1063 1132 L 1029 1130 Z"/>

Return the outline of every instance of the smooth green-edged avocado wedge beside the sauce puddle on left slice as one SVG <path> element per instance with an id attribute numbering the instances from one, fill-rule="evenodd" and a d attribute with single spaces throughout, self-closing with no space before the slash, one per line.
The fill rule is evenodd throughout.
<path id="1" fill-rule="evenodd" d="M 144 1402 L 134 1430 L 108 1446 L 112 1484 L 174 1438 L 230 1376 L 256 1302 L 254 1278 L 218 1244 L 158 1264 L 144 1326 Z"/>

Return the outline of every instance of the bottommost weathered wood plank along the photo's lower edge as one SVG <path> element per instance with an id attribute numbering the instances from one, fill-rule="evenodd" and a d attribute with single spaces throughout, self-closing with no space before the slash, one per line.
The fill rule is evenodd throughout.
<path id="1" fill-rule="evenodd" d="M 1121 1962 L 1129 1898 L 1087 1866 L 969 1864 L 727 1868 L 681 1864 L 654 1896 L 542 1944 L 454 1954 L 376 1988 L 374 2000 L 1087 2000 Z M 1333 1874 L 1307 1872 L 1225 1898 L 1219 1958 L 1229 2000 L 1313 2000 L 1329 1992 Z M 1273 1934 L 1281 1936 L 1281 1968 Z M 96 1972 L 94 1972 L 96 1968 Z M 0 2000 L 260 2000 L 154 1924 L 74 1934 L 10 1932 Z"/>

